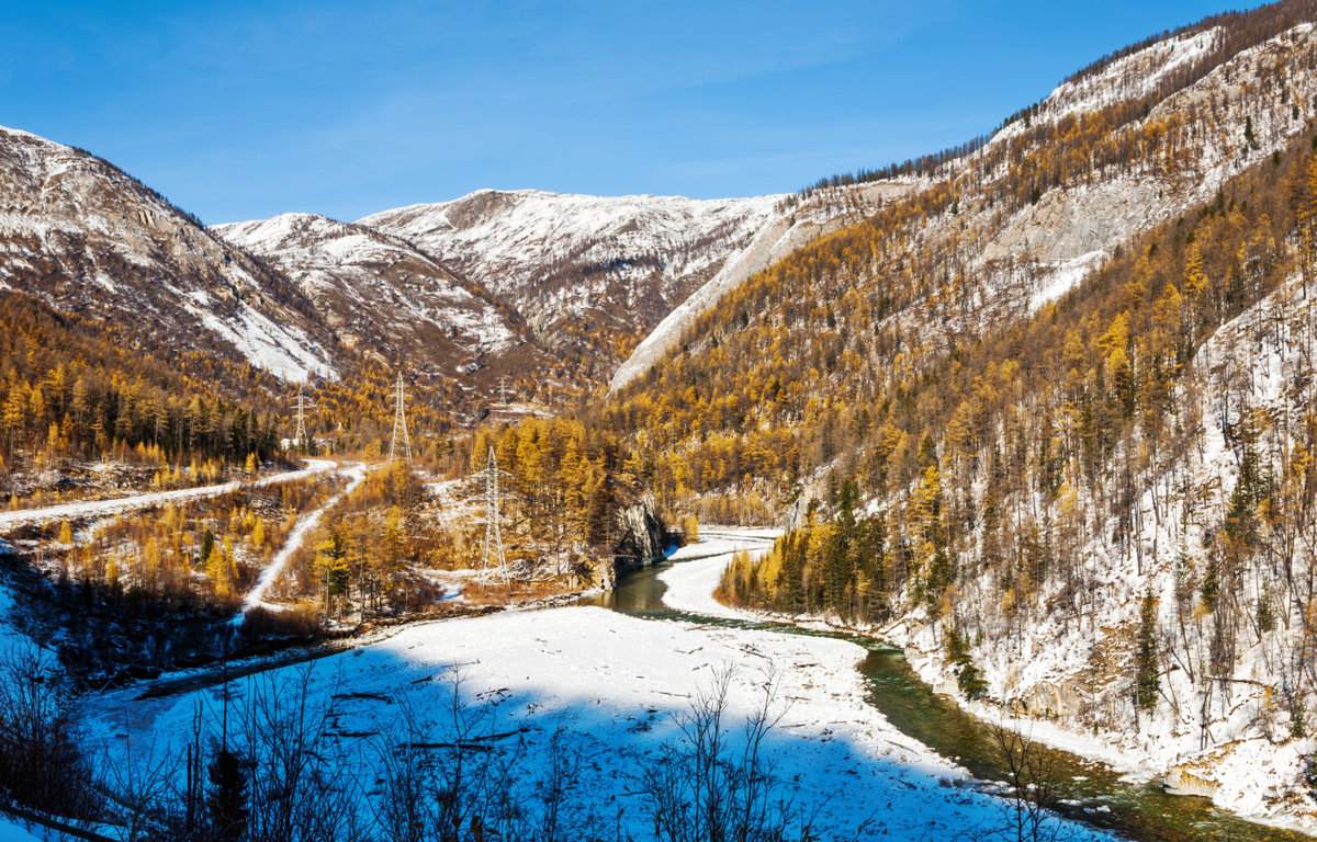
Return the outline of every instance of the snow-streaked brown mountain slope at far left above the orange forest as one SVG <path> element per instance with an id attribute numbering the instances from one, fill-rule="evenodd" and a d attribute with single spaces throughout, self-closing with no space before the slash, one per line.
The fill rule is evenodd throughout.
<path id="1" fill-rule="evenodd" d="M 149 347 L 333 378 L 335 341 L 278 272 L 95 155 L 0 128 L 0 289 L 107 318 Z"/>

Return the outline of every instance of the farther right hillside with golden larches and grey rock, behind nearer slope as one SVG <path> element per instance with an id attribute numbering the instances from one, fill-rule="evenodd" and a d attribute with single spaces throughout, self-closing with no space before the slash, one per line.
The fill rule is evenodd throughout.
<path id="1" fill-rule="evenodd" d="M 1218 30 L 1177 38 L 1205 50 L 1225 38 Z M 790 493 L 817 466 L 890 435 L 880 414 L 906 379 L 1036 312 L 1130 249 L 1141 228 L 1214 201 L 1227 178 L 1283 153 L 1313 114 L 1310 47 L 1301 25 L 1168 99 L 1013 121 L 943 178 L 706 310 L 680 353 L 619 393 L 608 422 L 636 435 L 665 497 Z M 1262 83 L 1263 93 L 1242 95 Z M 1204 100 L 1214 105 L 1197 108 Z M 914 437 L 906 450 L 917 447 L 917 430 L 902 432 Z"/>

